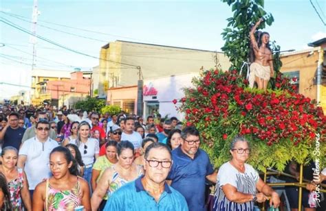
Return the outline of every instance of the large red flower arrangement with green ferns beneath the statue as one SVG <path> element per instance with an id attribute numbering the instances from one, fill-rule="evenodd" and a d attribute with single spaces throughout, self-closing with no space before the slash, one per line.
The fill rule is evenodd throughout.
<path id="1" fill-rule="evenodd" d="M 241 135 L 250 141 L 250 164 L 262 171 L 271 166 L 282 171 L 289 160 L 316 159 L 316 134 L 320 154 L 326 153 L 326 116 L 314 101 L 296 93 L 291 84 L 295 81 L 279 74 L 276 90 L 263 92 L 248 88 L 237 71 L 205 71 L 193 79 L 195 88 L 184 90 L 178 110 L 185 113 L 186 125 L 202 132 L 202 147 L 215 166 L 230 158 L 230 141 Z"/>

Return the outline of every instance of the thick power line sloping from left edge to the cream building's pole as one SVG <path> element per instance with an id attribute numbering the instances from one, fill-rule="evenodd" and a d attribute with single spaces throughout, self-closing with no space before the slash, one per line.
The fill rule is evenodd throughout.
<path id="1" fill-rule="evenodd" d="M 43 36 L 39 36 L 37 34 L 33 34 L 32 32 L 28 31 L 27 29 L 24 29 L 23 27 L 20 27 L 19 25 L 16 25 L 15 23 L 12 23 L 11 21 L 8 21 L 6 18 L 1 17 L 1 22 L 5 23 L 6 25 L 10 25 L 11 27 L 14 27 L 15 29 L 19 29 L 22 32 L 25 32 L 25 33 L 30 34 L 32 36 L 36 36 L 37 38 L 39 38 L 41 40 L 44 40 L 45 42 L 50 42 L 52 45 L 56 45 L 58 47 L 61 47 L 63 49 L 66 49 L 67 51 L 72 51 L 74 53 L 77 53 L 77 54 L 80 54 L 80 55 L 85 55 L 85 56 L 87 56 L 89 58 L 95 58 L 97 60 L 104 60 L 106 62 L 113 62 L 113 63 L 121 64 L 121 65 L 124 65 L 124 66 L 133 66 L 135 69 L 138 68 L 138 66 L 133 65 L 133 64 L 127 64 L 127 63 L 122 63 L 122 62 L 115 62 L 115 61 L 112 61 L 112 60 L 106 60 L 106 59 L 98 58 L 98 57 L 96 57 L 94 55 L 89 55 L 87 53 L 83 53 L 83 52 L 80 52 L 80 51 L 76 51 L 74 49 L 70 49 L 69 47 L 65 47 L 65 46 L 63 46 L 63 45 L 61 45 L 59 43 L 56 43 L 56 42 L 54 42 L 54 41 L 52 41 L 50 39 L 47 39 L 47 38 L 45 38 Z"/>

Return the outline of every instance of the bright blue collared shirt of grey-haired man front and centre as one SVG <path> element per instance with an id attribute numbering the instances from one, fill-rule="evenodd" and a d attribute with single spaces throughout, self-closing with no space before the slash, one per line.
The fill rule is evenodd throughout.
<path id="1" fill-rule="evenodd" d="M 129 182 L 116 190 L 107 200 L 104 210 L 106 211 L 187 211 L 188 206 L 186 199 L 171 188 L 168 184 L 164 184 L 164 192 L 160 199 L 155 199 L 144 190 L 142 186 L 142 177 L 138 177 L 133 182 Z"/>

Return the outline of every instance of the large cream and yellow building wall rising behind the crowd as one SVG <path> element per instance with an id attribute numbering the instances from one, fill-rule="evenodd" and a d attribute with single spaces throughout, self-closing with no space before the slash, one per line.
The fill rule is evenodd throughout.
<path id="1" fill-rule="evenodd" d="M 138 79 L 199 73 L 230 62 L 221 52 L 117 40 L 100 49 L 99 96 L 113 87 L 135 86 Z"/>

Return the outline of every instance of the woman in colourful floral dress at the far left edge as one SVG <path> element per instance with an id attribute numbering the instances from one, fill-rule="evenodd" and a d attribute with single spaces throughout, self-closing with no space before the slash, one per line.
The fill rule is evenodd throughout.
<path id="1" fill-rule="evenodd" d="M 27 210 L 32 210 L 26 175 L 21 169 L 17 169 L 16 166 L 18 160 L 17 149 L 14 147 L 3 148 L 1 158 L 2 164 L 0 165 L 0 173 L 2 173 L 7 180 L 12 210 L 22 210 L 22 199 L 25 208 Z"/>

